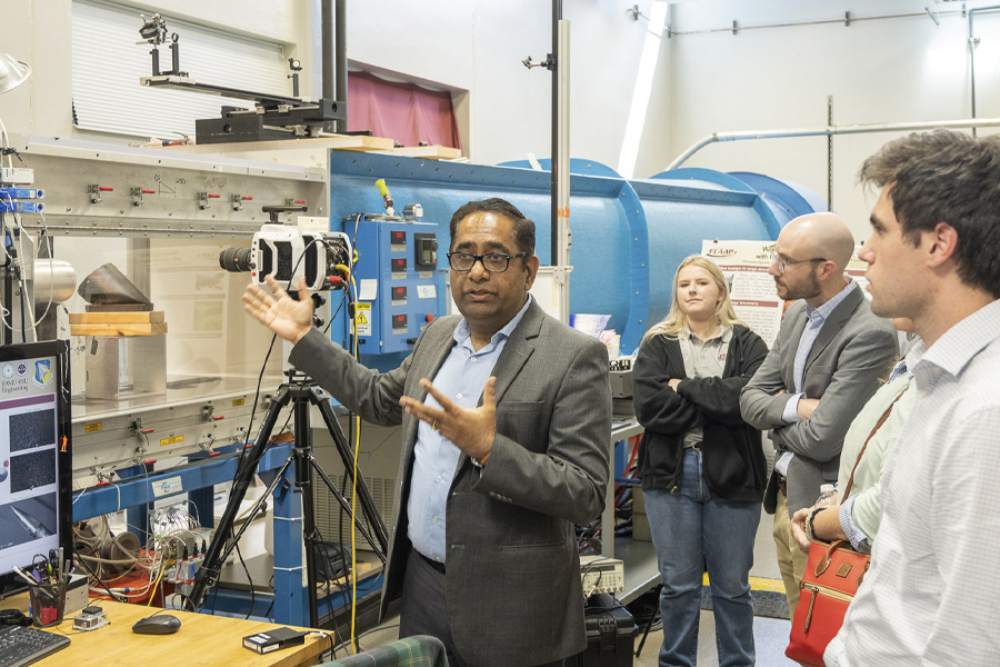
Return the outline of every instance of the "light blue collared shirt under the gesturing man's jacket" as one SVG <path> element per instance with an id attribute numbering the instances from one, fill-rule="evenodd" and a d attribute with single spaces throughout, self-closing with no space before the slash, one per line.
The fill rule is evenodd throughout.
<path id="1" fill-rule="evenodd" d="M 493 372 L 507 339 L 524 317 L 531 305 L 529 295 L 524 307 L 507 325 L 493 334 L 480 350 L 472 347 L 472 331 L 462 318 L 454 328 L 454 347 L 434 377 L 434 388 L 462 408 L 479 405 L 482 388 Z M 441 405 L 428 394 L 423 405 L 441 409 Z M 413 471 L 410 477 L 410 498 L 407 504 L 409 530 L 413 548 L 438 563 L 444 563 L 444 530 L 448 491 L 458 469 L 461 450 L 442 438 L 429 424 L 417 427 L 417 447 Z"/>

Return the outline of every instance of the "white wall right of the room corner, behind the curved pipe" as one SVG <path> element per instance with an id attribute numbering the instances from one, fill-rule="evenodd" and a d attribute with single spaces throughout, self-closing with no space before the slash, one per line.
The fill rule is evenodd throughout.
<path id="1" fill-rule="evenodd" d="M 826 126 L 828 94 L 833 96 L 837 125 L 969 118 L 968 23 L 960 13 L 940 13 L 937 27 L 924 13 L 927 4 L 926 0 L 732 0 L 676 7 L 672 22 L 679 31 L 731 27 L 733 20 L 747 27 L 841 21 L 736 36 L 731 31 L 676 36 L 676 150 L 670 159 L 712 132 Z M 970 8 L 984 4 L 968 3 Z M 960 3 L 938 7 L 953 10 Z M 846 11 L 856 19 L 850 27 L 842 22 Z M 901 13 L 921 16 L 857 20 Z M 1000 13 L 977 16 L 976 33 L 982 40 L 976 57 L 978 116 L 1000 116 Z M 833 208 L 859 239 L 868 235 L 874 197 L 856 185 L 858 168 L 898 136 L 833 139 Z M 687 166 L 759 171 L 801 182 L 823 198 L 827 195 L 826 138 L 716 143 Z"/>

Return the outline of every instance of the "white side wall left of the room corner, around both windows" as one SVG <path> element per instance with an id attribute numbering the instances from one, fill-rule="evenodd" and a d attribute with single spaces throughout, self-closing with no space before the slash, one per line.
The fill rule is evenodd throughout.
<path id="1" fill-rule="evenodd" d="M 639 4 L 646 13 L 654 0 Z M 20 133 L 99 141 L 128 139 L 81 132 L 71 122 L 71 0 L 4 0 L 6 23 L 23 29 L 6 34 L 2 48 L 29 62 L 28 83 L 0 97 L 0 118 Z M 226 30 L 286 44 L 303 61 L 302 94 L 321 92 L 321 28 L 318 0 L 164 0 L 128 2 L 139 19 L 161 11 Z M 614 167 L 628 117 L 646 22 L 626 8 L 636 0 L 573 0 L 571 153 Z M 353 61 L 469 90 L 467 155 L 496 163 L 550 153 L 551 74 L 528 70 L 551 49 L 549 0 L 377 0 L 348 4 L 348 57 Z M 137 47 L 138 48 L 138 47 Z M 664 40 L 661 70 L 667 71 Z M 183 62 L 182 62 L 183 64 Z M 94 72 L 100 77 L 100 72 Z M 663 78 L 668 78 L 668 73 Z M 651 102 L 637 172 L 652 172 L 669 148 L 666 88 Z"/>

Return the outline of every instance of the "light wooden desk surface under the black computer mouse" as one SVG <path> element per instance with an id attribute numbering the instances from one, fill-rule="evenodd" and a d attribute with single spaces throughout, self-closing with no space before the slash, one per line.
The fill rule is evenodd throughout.
<path id="1" fill-rule="evenodd" d="M 173 635 L 136 635 L 132 624 L 158 611 L 157 608 L 94 600 L 108 613 L 110 624 L 80 633 L 72 619 L 50 631 L 70 638 L 68 648 L 36 663 L 39 667 L 110 667 L 183 665 L 184 667 L 299 667 L 316 665 L 319 654 L 330 647 L 327 636 L 309 635 L 306 643 L 267 655 L 243 648 L 242 638 L 274 624 L 208 614 L 170 610 L 181 621 Z M 303 628 L 304 629 L 304 628 Z"/>

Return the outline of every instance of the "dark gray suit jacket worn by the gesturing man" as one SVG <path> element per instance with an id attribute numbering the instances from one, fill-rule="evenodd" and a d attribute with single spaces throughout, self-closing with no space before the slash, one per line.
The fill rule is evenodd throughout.
<path id="1" fill-rule="evenodd" d="M 460 318 L 431 322 L 398 369 L 356 362 L 319 331 L 289 360 L 373 424 L 402 424 L 403 449 L 382 611 L 402 590 L 410 550 L 407 501 L 418 420 L 403 395 L 423 400 L 454 345 Z M 497 366 L 497 437 L 483 469 L 459 459 L 447 514 L 447 603 L 452 638 L 472 665 L 537 665 L 586 648 L 574 524 L 604 507 L 611 390 L 607 348 L 532 301 Z M 480 397 L 480 404 L 482 398 Z"/>

